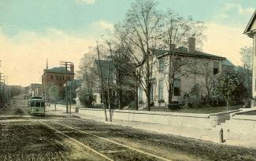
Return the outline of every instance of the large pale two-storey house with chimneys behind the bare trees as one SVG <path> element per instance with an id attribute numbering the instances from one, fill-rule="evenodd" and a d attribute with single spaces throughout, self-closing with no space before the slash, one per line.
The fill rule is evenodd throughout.
<path id="1" fill-rule="evenodd" d="M 219 57 L 210 53 L 204 53 L 195 49 L 195 38 L 188 39 L 187 47 L 175 49 L 176 60 L 180 64 L 176 68 L 173 102 L 184 101 L 192 91 L 198 97 L 206 96 L 206 74 L 210 76 L 221 72 L 224 65 L 228 64 L 225 57 Z M 168 103 L 168 73 L 169 73 L 169 50 L 150 49 L 153 64 L 152 86 L 150 101 L 154 106 L 165 106 Z M 207 73 L 206 73 L 207 71 Z M 147 102 L 143 88 L 138 92 L 139 104 Z"/>

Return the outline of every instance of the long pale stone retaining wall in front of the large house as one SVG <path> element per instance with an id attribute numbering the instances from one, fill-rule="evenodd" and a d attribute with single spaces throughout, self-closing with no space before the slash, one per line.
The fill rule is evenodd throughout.
<path id="1" fill-rule="evenodd" d="M 161 125 L 193 127 L 200 129 L 211 129 L 225 120 L 230 118 L 231 112 L 220 112 L 215 114 L 195 114 L 179 112 L 147 112 L 147 111 L 130 111 L 130 110 L 113 110 L 113 121 L 131 121 L 140 123 L 154 123 Z M 237 112 L 237 111 L 236 111 Z M 81 108 L 80 114 L 93 115 L 99 119 L 105 118 L 102 109 Z M 109 118 L 109 111 L 107 110 Z"/>

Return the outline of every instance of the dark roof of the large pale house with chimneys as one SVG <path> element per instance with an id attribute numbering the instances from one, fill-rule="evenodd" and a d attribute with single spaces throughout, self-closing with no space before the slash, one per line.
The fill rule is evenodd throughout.
<path id="1" fill-rule="evenodd" d="M 169 50 L 166 49 L 151 49 L 151 52 L 154 53 L 156 55 L 156 57 L 164 57 L 165 55 L 167 55 L 169 53 Z M 222 59 L 225 60 L 225 57 L 220 57 L 217 55 L 213 55 L 211 53 L 204 53 L 202 51 L 197 51 L 195 50 L 194 53 L 189 53 L 187 52 L 187 48 L 186 47 L 180 47 L 178 49 L 176 49 L 176 54 L 180 55 L 180 56 L 187 56 L 187 57 L 204 57 L 204 58 L 210 58 L 210 59 Z"/>

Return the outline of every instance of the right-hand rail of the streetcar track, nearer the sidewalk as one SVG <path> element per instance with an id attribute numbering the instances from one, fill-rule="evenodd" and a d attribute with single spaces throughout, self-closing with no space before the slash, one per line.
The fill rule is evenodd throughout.
<path id="1" fill-rule="evenodd" d="M 83 131 L 83 130 L 76 129 L 76 128 L 71 127 L 71 126 L 66 126 L 66 125 L 64 125 L 64 124 L 62 124 L 62 123 L 58 123 L 58 122 L 55 122 L 55 121 L 52 121 L 52 120 L 46 120 L 46 121 L 49 121 L 49 122 L 52 122 L 52 123 L 57 123 L 57 124 L 59 124 L 59 125 L 61 125 L 61 126 L 68 127 L 69 129 L 76 130 L 76 131 L 79 131 L 80 133 L 88 134 L 88 135 L 91 135 L 91 136 L 93 136 L 93 137 L 97 137 L 97 138 L 99 138 L 99 139 L 102 139 L 103 141 L 108 141 L 108 142 L 111 142 L 111 143 L 113 143 L 113 144 L 115 144 L 115 145 L 122 146 L 122 147 L 124 147 L 124 148 L 129 148 L 129 149 L 131 149 L 132 151 L 139 152 L 139 153 L 144 154 L 144 155 L 146 155 L 146 156 L 151 156 L 151 157 L 154 157 L 154 158 L 157 158 L 157 159 L 161 159 L 161 160 L 165 160 L 165 161 L 171 161 L 171 159 L 165 159 L 164 157 L 154 155 L 154 154 L 152 154 L 152 153 L 150 153 L 150 152 L 144 152 L 144 151 L 139 150 L 139 149 L 137 149 L 137 148 L 132 148 L 132 147 L 130 147 L 130 146 L 128 146 L 128 145 L 123 145 L 123 144 L 121 144 L 121 143 L 118 143 L 117 141 L 112 141 L 112 140 L 109 140 L 109 139 L 107 139 L 107 138 L 105 138 L 105 137 L 99 137 L 98 135 L 91 134 L 91 133 L 87 133 L 87 132 L 85 132 L 85 131 Z"/>

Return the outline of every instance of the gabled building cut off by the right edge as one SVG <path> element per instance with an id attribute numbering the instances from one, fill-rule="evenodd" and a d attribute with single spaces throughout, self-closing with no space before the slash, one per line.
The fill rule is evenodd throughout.
<path id="1" fill-rule="evenodd" d="M 251 16 L 249 23 L 243 34 L 253 38 L 253 61 L 252 61 L 252 97 L 256 97 L 256 10 Z"/>

